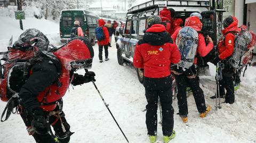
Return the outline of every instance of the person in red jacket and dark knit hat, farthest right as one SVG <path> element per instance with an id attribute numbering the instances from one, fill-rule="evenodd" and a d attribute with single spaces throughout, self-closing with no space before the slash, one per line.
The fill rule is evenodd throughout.
<path id="1" fill-rule="evenodd" d="M 225 102 L 233 104 L 235 102 L 233 73 L 234 68 L 228 63 L 227 59 L 233 54 L 235 34 L 239 32 L 237 28 L 238 20 L 234 16 L 228 16 L 223 21 L 222 38 L 218 44 L 219 56 L 215 57 L 214 64 L 220 61 L 220 64 L 224 65 L 222 74 L 222 80 L 220 81 L 220 97 L 225 96 L 225 89 L 227 90 L 225 96 Z M 214 97 L 211 97 L 214 98 Z"/>

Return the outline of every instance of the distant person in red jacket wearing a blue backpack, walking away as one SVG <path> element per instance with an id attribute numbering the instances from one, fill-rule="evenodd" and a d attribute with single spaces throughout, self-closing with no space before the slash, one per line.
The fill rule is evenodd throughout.
<path id="1" fill-rule="evenodd" d="M 98 40 L 98 45 L 99 45 L 99 59 L 100 63 L 103 62 L 102 60 L 102 51 L 103 51 L 103 46 L 105 50 L 105 61 L 108 61 L 108 45 L 109 45 L 109 33 L 108 33 L 108 28 L 105 27 L 105 21 L 103 19 L 99 19 L 99 27 L 102 27 L 103 29 L 103 34 L 105 39 L 99 41 Z"/>

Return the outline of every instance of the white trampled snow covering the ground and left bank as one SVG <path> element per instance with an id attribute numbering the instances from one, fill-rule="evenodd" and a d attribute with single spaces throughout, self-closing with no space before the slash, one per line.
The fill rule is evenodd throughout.
<path id="1" fill-rule="evenodd" d="M 14 18 L 0 17 L 0 52 L 6 51 L 9 38 L 17 39 L 22 32 L 19 22 Z M 47 20 L 26 18 L 23 20 L 25 29 L 37 28 L 42 30 L 51 43 L 59 43 L 59 26 Z M 98 46 L 94 46 L 93 68 L 96 74 L 95 83 L 98 86 L 110 110 L 123 129 L 130 142 L 149 142 L 145 124 L 145 91 L 137 79 L 137 73 L 131 65 L 120 66 L 117 63 L 116 47 L 109 48 L 107 62 L 99 63 Z M 214 66 L 211 65 L 211 77 L 201 77 L 201 87 L 204 90 L 206 103 L 212 111 L 201 119 L 196 110 L 193 96 L 188 97 L 188 123 L 185 124 L 176 114 L 177 99 L 173 101 L 174 130 L 177 136 L 170 142 L 256 142 L 256 68 L 249 67 L 242 78 L 242 86 L 236 91 L 236 102 L 232 105 L 221 104 L 222 108 L 215 111 L 215 100 L 209 99 L 215 92 Z M 84 73 L 84 71 L 78 71 Z M 74 89 L 73 89 L 74 88 Z M 63 98 L 67 121 L 71 125 L 70 142 L 126 142 L 114 120 L 103 104 L 92 83 L 69 88 Z M 223 102 L 223 99 L 221 99 Z M 6 103 L 0 102 L 0 111 Z M 158 115 L 159 116 L 159 115 Z M 158 125 L 158 140 L 162 141 L 161 126 Z M 12 114 L 6 122 L 0 123 L 0 142 L 35 142 L 28 136 L 26 127 L 17 114 Z"/>

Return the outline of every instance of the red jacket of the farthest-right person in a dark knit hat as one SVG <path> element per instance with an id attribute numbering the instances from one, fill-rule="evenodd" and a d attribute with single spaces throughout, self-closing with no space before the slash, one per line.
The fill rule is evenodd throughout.
<path id="1" fill-rule="evenodd" d="M 237 28 L 238 20 L 234 16 L 233 20 L 233 23 L 231 23 L 227 28 L 222 30 L 223 36 L 218 44 L 220 60 L 225 60 L 227 57 L 231 56 L 234 51 L 235 35 L 233 33 L 237 33 L 239 32 L 239 30 Z M 225 38 L 223 39 L 224 36 Z"/>

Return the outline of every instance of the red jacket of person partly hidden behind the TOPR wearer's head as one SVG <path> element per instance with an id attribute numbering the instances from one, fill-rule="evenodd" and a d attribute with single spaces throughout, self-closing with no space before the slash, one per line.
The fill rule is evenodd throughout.
<path id="1" fill-rule="evenodd" d="M 170 34 L 172 33 L 172 17 L 171 17 L 171 12 L 164 7 L 162 11 L 159 12 L 159 17 L 162 19 L 162 22 L 166 23 L 165 29 L 167 32 Z"/>

